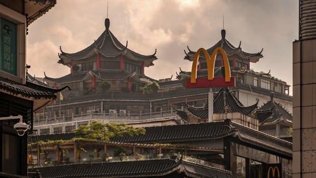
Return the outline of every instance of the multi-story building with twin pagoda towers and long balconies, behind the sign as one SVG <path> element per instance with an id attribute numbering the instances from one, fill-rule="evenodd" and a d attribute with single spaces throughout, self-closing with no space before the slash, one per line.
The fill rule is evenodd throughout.
<path id="1" fill-rule="evenodd" d="M 70 68 L 70 73 L 61 78 L 50 78 L 45 74 L 42 79 L 50 87 L 70 86 L 72 90 L 62 93 L 63 99 L 56 104 L 34 113 L 35 127 L 39 134 L 71 132 L 80 124 L 87 124 L 91 119 L 103 122 L 147 122 L 152 120 L 176 119 L 174 109 L 185 109 L 186 105 L 203 107 L 207 104 L 208 89 L 189 89 L 185 87 L 191 72 L 182 71 L 177 79 L 154 80 L 145 75 L 156 56 L 145 56 L 120 43 L 110 31 L 110 20 L 106 19 L 106 29 L 90 46 L 74 54 L 61 50 L 61 64 Z M 222 46 L 228 55 L 232 76 L 236 86 L 230 90 L 244 106 L 264 105 L 274 92 L 274 101 L 292 113 L 292 96 L 288 95 L 289 85 L 273 77 L 270 72 L 255 72 L 251 63 L 262 58 L 259 53 L 244 52 L 241 43 L 234 47 L 222 30 L 222 38 L 207 49 Z M 189 49 L 185 59 L 192 60 L 195 52 Z M 215 75 L 221 75 L 222 57 L 217 55 Z M 198 65 L 198 77 L 207 75 L 205 59 L 201 55 Z M 37 81 L 29 77 L 32 81 Z M 109 89 L 103 83 L 110 84 Z M 160 90 L 153 94 L 142 93 L 141 88 L 149 82 L 157 82 Z M 215 88 L 213 91 L 218 92 Z M 178 120 L 181 122 L 181 120 Z M 176 122 L 172 122 L 176 123 Z M 162 123 L 167 124 L 167 123 Z"/>

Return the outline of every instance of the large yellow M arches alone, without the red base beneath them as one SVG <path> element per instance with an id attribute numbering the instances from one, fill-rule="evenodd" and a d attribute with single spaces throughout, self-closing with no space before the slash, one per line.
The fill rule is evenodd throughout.
<path id="1" fill-rule="evenodd" d="M 207 79 L 213 80 L 214 79 L 214 67 L 215 67 L 215 60 L 217 53 L 221 52 L 223 56 L 224 61 L 224 67 L 225 67 L 225 82 L 230 82 L 230 66 L 228 62 L 228 57 L 225 52 L 225 50 L 222 47 L 217 47 L 213 51 L 212 55 L 209 57 L 209 54 L 204 48 L 199 48 L 193 57 L 193 64 L 192 64 L 192 70 L 191 70 L 191 83 L 196 83 L 196 77 L 197 77 L 197 62 L 199 60 L 200 54 L 203 53 L 205 56 L 205 61 L 207 65 Z"/>

